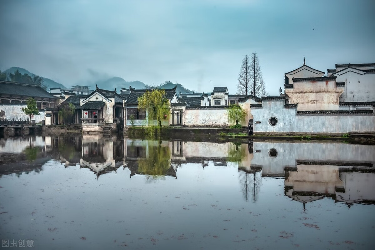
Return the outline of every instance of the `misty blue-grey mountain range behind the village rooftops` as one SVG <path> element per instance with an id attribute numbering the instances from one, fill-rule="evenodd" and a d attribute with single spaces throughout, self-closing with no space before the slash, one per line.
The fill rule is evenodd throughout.
<path id="1" fill-rule="evenodd" d="M 35 76 L 35 74 L 31 73 L 27 69 L 19 68 L 19 67 L 11 67 L 4 72 L 14 73 L 15 71 L 17 71 L 17 69 L 21 74 L 28 74 L 31 77 Z M 44 78 L 44 83 L 47 85 L 47 89 L 56 88 L 56 87 L 60 87 L 60 88 L 63 88 L 63 89 L 69 88 L 69 87 L 66 87 L 63 84 L 58 83 L 58 82 L 56 82 L 54 80 L 51 80 L 49 78 L 46 78 L 46 77 L 43 77 L 43 78 Z M 90 86 L 91 90 L 94 90 L 96 85 L 98 85 L 98 88 L 100 88 L 100 89 L 114 90 L 116 88 L 117 93 L 120 93 L 121 87 L 126 88 L 126 89 L 129 89 L 129 86 L 131 86 L 132 88 L 135 88 L 135 89 L 145 89 L 147 87 L 150 87 L 150 86 L 147 86 L 146 84 L 142 83 L 141 81 L 125 81 L 121 77 L 111 77 L 111 78 L 108 78 L 108 79 L 105 79 L 105 80 L 98 80 L 98 81 L 94 81 L 94 82 L 86 82 L 84 84 L 76 83 L 74 85 Z M 176 88 L 177 94 L 179 92 L 181 92 L 181 93 L 193 92 L 189 89 L 185 89 L 184 86 L 182 86 L 179 83 L 174 84 L 174 83 L 171 83 L 171 82 L 165 82 L 165 83 L 160 84 L 156 87 L 158 87 L 160 89 L 171 89 L 174 86 L 177 86 L 177 88 Z"/>

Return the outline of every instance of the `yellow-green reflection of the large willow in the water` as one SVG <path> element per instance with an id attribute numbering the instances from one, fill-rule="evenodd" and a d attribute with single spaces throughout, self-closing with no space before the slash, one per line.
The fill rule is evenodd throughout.
<path id="1" fill-rule="evenodd" d="M 165 178 L 171 164 L 169 147 L 158 146 L 148 148 L 148 158 L 140 158 L 138 171 L 147 175 L 148 180 Z"/>

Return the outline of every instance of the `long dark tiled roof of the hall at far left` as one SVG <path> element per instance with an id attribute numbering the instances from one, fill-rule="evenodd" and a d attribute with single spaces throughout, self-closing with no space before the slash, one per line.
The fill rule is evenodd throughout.
<path id="1" fill-rule="evenodd" d="M 35 84 L 16 83 L 13 81 L 0 81 L 0 95 L 1 94 L 57 99 L 56 96 L 48 93 L 40 86 Z"/>

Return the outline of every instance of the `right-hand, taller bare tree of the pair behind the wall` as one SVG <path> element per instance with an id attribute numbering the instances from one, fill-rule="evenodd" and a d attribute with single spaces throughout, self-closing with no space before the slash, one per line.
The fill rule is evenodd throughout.
<path id="1" fill-rule="evenodd" d="M 266 96 L 266 84 L 263 81 L 262 70 L 259 66 L 259 59 L 257 53 L 251 54 L 250 59 L 250 90 L 251 95 L 254 96 Z"/>

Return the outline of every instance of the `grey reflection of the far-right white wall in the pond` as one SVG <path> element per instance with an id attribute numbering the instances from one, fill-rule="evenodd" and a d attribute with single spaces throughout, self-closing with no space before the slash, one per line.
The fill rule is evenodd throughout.
<path id="1" fill-rule="evenodd" d="M 375 201 L 375 173 L 340 173 L 345 193 L 336 192 L 336 200 L 344 202 Z"/>

